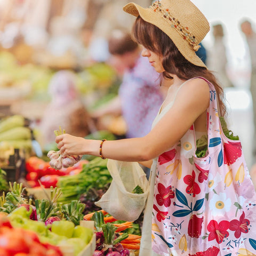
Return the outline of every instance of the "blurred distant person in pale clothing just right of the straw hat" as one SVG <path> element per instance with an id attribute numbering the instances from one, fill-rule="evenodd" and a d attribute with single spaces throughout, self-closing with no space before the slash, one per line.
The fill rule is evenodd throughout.
<path id="1" fill-rule="evenodd" d="M 223 26 L 220 23 L 214 25 L 214 43 L 210 58 L 207 59 L 207 67 L 216 73 L 215 75 L 223 88 L 233 86 L 227 75 L 227 54 L 224 36 Z"/>

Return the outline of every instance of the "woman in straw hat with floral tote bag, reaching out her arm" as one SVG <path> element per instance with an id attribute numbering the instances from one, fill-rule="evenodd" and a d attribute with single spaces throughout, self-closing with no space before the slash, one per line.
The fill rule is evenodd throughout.
<path id="1" fill-rule="evenodd" d="M 132 31 L 144 47 L 142 56 L 158 73 L 172 78 L 173 84 L 145 137 L 103 142 L 63 134 L 56 138 L 61 153 L 92 154 L 151 167 L 140 256 L 254 255 L 255 234 L 250 225 L 255 226 L 255 214 L 245 207 L 249 198 L 255 201 L 255 194 L 246 190 L 253 185 L 246 179 L 241 190 L 228 175 L 241 157 L 241 143 L 236 144 L 234 159 L 227 150 L 223 149 L 225 154 L 222 148 L 216 150 L 222 134 L 218 109 L 220 115 L 226 113 L 222 89 L 196 55 L 209 23 L 189 0 L 156 1 L 148 9 L 130 3 L 124 11 L 137 17 Z M 195 141 L 207 136 L 206 155 L 199 158 Z M 246 164 L 241 166 L 244 171 Z M 238 183 L 244 180 L 238 177 Z"/>

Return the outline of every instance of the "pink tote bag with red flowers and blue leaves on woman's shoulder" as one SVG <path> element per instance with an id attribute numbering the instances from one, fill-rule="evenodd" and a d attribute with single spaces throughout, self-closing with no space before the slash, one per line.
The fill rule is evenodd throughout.
<path id="1" fill-rule="evenodd" d="M 151 230 L 161 255 L 256 255 L 255 189 L 241 142 L 221 130 L 209 87 L 207 156 L 196 157 L 192 126 L 158 157 Z"/>

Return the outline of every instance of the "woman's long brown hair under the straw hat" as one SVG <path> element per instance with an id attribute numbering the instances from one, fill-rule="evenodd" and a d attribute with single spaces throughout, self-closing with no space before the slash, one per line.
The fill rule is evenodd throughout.
<path id="1" fill-rule="evenodd" d="M 163 77 L 170 79 L 172 78 L 170 74 L 177 75 L 182 80 L 188 80 L 193 77 L 204 77 L 211 82 L 214 85 L 219 100 L 220 115 L 226 115 L 223 90 L 212 74 L 212 71 L 189 62 L 183 57 L 169 36 L 155 25 L 143 20 L 140 16 L 134 22 L 132 37 L 146 49 L 163 56 L 162 65 L 165 70 L 162 73 Z"/>

